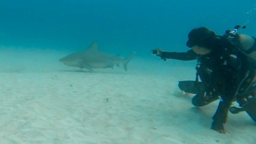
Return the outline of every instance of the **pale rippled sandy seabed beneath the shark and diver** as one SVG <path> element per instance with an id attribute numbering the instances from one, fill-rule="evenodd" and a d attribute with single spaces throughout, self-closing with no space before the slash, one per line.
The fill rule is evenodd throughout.
<path id="1" fill-rule="evenodd" d="M 193 95 L 180 92 L 195 62 L 137 54 L 128 72 L 89 72 L 57 61 L 66 54 L 0 50 L 0 144 L 256 143 L 246 113 L 229 113 L 222 135 L 210 129 L 218 101 L 195 108 Z"/>

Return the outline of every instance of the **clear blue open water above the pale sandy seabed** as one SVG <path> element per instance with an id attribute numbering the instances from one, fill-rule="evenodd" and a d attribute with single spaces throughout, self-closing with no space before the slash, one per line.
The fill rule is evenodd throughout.
<path id="1" fill-rule="evenodd" d="M 149 54 L 186 51 L 187 34 L 209 27 L 222 35 L 235 25 L 256 35 L 255 0 L 0 0 L 0 45 Z M 250 11 L 252 10 L 252 11 Z M 248 13 L 247 13 L 248 12 Z"/>

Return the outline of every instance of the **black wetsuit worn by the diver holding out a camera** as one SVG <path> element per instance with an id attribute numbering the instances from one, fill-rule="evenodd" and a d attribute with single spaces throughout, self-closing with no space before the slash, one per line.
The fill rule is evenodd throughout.
<path id="1" fill-rule="evenodd" d="M 208 85 L 209 90 L 216 90 L 221 97 L 211 128 L 224 129 L 223 124 L 226 123 L 231 102 L 236 99 L 239 84 L 250 67 L 245 64 L 248 63 L 247 57 L 225 42 L 216 45 L 216 49 L 210 54 L 199 55 L 192 50 L 186 53 L 162 52 L 161 58 L 183 61 L 197 59 L 196 70 L 201 81 Z"/>

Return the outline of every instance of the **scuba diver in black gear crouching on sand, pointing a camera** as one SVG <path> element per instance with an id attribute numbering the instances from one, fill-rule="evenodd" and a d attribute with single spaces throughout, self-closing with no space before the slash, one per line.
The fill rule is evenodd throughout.
<path id="1" fill-rule="evenodd" d="M 192 98 L 196 107 L 220 99 L 210 128 L 221 134 L 225 134 L 228 111 L 246 111 L 256 122 L 256 38 L 238 34 L 240 28 L 245 27 L 236 26 L 223 36 L 206 27 L 194 28 L 186 44 L 191 50 L 184 53 L 152 50 L 152 54 L 164 60 L 197 60 L 196 80 L 179 81 L 178 86 L 196 94 Z M 241 108 L 231 107 L 234 101 Z"/>

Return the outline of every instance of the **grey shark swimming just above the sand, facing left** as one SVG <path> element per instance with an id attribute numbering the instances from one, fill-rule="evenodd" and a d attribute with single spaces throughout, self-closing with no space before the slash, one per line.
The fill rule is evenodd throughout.
<path id="1" fill-rule="evenodd" d="M 119 66 L 123 63 L 125 71 L 127 71 L 127 63 L 133 58 L 135 53 L 122 59 L 119 55 L 110 55 L 100 52 L 97 43 L 93 43 L 84 51 L 69 54 L 59 61 L 68 66 L 86 68 L 93 71 L 95 68 L 113 68 L 114 65 Z"/>

